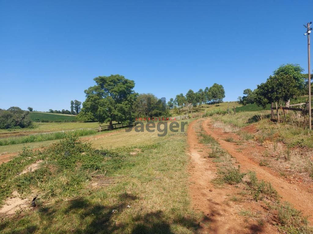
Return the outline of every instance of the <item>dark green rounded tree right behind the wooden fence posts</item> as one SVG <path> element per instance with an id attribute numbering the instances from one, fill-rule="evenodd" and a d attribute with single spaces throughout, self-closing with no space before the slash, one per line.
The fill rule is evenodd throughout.
<path id="1" fill-rule="evenodd" d="M 264 108 L 271 102 L 283 105 L 299 93 L 298 83 L 291 75 L 269 76 L 265 83 L 258 85 L 255 92 L 255 102 Z"/>

